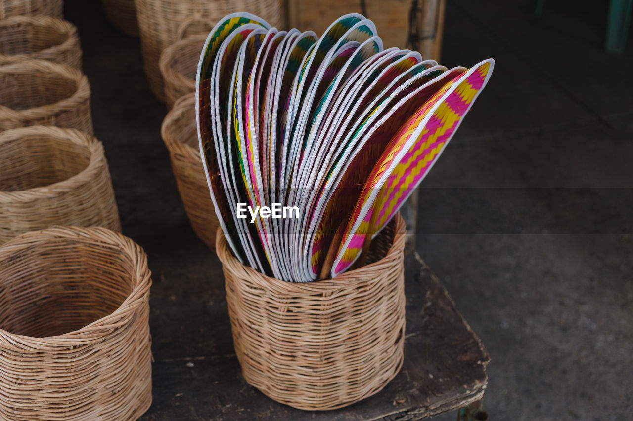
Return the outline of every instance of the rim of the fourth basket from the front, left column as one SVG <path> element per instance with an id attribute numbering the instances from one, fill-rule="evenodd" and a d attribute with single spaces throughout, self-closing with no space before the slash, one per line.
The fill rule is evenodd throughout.
<path id="1" fill-rule="evenodd" d="M 66 35 L 66 39 L 61 44 L 56 44 L 54 46 L 35 51 L 30 53 L 23 54 L 1 54 L 3 58 L 5 57 L 14 57 L 20 59 L 29 59 L 29 58 L 37 58 L 41 54 L 47 54 L 48 52 L 55 51 L 65 51 L 69 50 L 73 47 L 73 44 L 79 44 L 78 42 L 78 33 L 77 27 L 70 23 L 67 20 L 54 18 L 53 16 L 11 16 L 10 18 L 6 18 L 4 20 L 0 20 L 0 31 L 6 27 L 12 27 L 15 25 L 32 25 L 34 27 L 49 27 L 53 28 L 56 32 Z"/>

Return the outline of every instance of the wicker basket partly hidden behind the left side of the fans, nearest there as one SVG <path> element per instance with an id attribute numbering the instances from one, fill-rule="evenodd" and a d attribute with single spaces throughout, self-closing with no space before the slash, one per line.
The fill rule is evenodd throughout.
<path id="1" fill-rule="evenodd" d="M 219 223 L 197 147 L 196 94 L 176 101 L 163 121 L 161 135 L 169 149 L 173 174 L 191 226 L 200 240 L 215 250 Z"/>

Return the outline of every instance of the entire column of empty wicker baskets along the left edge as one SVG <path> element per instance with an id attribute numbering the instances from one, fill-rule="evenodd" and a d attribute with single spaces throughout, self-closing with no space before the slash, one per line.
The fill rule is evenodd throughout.
<path id="1" fill-rule="evenodd" d="M 62 4 L 0 0 L 0 418 L 133 420 L 151 405 L 150 272 L 117 232 Z"/>

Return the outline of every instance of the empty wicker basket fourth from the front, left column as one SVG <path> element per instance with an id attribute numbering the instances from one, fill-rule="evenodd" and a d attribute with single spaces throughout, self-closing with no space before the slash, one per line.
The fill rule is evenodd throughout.
<path id="1" fill-rule="evenodd" d="M 49 16 L 13 16 L 0 20 L 0 54 L 81 68 L 77 28 Z"/>

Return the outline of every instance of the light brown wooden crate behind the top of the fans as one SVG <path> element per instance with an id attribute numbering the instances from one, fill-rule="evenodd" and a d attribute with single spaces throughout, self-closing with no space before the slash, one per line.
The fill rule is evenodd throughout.
<path id="1" fill-rule="evenodd" d="M 364 6 L 363 6 L 364 4 Z M 411 6 L 417 4 L 415 39 L 410 40 Z M 289 28 L 313 30 L 317 35 L 341 15 L 362 13 L 373 20 L 385 49 L 408 48 L 420 51 L 424 59 L 439 61 L 446 0 L 287 0 Z"/>

